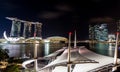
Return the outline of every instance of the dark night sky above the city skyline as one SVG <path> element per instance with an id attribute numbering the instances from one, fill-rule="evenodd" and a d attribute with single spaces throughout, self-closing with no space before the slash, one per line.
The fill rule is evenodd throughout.
<path id="1" fill-rule="evenodd" d="M 79 40 L 88 39 L 92 18 L 120 17 L 120 0 L 0 0 L 0 37 L 11 28 L 5 17 L 41 22 L 43 38 L 65 36 L 77 31 Z"/>

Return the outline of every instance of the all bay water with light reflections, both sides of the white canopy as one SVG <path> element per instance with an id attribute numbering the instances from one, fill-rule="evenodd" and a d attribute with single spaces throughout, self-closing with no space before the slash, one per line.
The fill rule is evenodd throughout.
<path id="1" fill-rule="evenodd" d="M 8 50 L 8 54 L 10 57 L 24 57 L 24 56 L 34 57 L 34 46 L 35 46 L 34 44 L 24 44 L 24 43 L 23 44 L 0 44 L 1 48 Z M 60 48 L 61 47 L 50 48 L 50 53 Z M 93 47 L 90 46 L 89 49 L 98 54 L 111 56 L 111 57 L 114 56 L 114 46 L 110 48 L 109 44 L 97 43 L 97 44 L 94 44 Z M 43 57 L 45 54 L 44 52 L 45 52 L 44 45 L 39 44 L 37 48 L 37 56 Z M 120 57 L 120 49 L 118 49 L 118 56 Z"/>

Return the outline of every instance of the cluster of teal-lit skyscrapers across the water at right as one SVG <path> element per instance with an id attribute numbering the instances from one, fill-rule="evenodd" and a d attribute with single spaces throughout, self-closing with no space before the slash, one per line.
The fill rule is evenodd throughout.
<path id="1" fill-rule="evenodd" d="M 90 39 L 94 39 L 98 41 L 108 40 L 108 28 L 106 23 L 94 25 L 93 27 L 90 26 L 89 30 L 90 30 L 89 31 Z"/>

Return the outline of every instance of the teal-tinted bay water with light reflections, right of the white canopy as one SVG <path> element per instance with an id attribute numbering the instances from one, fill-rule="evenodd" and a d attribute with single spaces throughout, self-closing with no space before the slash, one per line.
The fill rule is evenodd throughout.
<path id="1" fill-rule="evenodd" d="M 114 48 L 115 44 L 108 43 L 96 43 L 90 49 L 98 54 L 106 55 L 106 56 L 114 56 Z M 118 48 L 118 57 L 120 58 L 120 49 Z"/>

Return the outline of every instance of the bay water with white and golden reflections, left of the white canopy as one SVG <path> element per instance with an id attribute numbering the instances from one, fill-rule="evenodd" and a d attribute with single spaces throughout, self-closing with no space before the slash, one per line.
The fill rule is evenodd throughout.
<path id="1" fill-rule="evenodd" d="M 49 53 L 52 53 L 56 51 L 57 49 L 60 49 L 61 46 L 54 44 L 55 47 L 51 47 Z M 58 46 L 58 47 L 57 47 Z M 33 43 L 21 43 L 21 44 L 10 44 L 10 43 L 3 43 L 0 44 L 0 47 L 7 50 L 7 53 L 10 57 L 34 57 L 34 48 L 35 44 Z M 37 46 L 37 56 L 43 57 L 45 54 L 44 50 L 44 44 L 39 44 Z"/>

